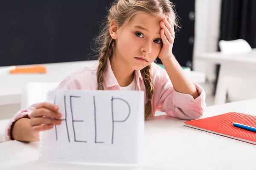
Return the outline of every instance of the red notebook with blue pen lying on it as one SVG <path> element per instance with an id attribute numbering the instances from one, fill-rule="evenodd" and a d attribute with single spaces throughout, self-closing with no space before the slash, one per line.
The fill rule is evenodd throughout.
<path id="1" fill-rule="evenodd" d="M 184 126 L 193 127 L 221 136 L 256 144 L 256 133 L 232 125 L 232 122 L 256 127 L 256 116 L 230 112 L 218 116 L 184 122 Z"/>

